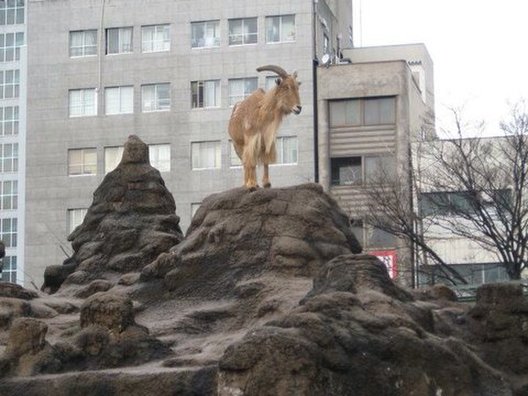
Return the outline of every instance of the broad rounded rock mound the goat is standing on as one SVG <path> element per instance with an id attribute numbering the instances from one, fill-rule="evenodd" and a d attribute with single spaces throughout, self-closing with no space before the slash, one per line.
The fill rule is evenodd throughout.
<path id="1" fill-rule="evenodd" d="M 263 273 L 313 277 L 326 261 L 359 253 L 346 214 L 316 184 L 234 189 L 206 198 L 185 241 L 142 271 L 175 294 L 234 295 Z"/>

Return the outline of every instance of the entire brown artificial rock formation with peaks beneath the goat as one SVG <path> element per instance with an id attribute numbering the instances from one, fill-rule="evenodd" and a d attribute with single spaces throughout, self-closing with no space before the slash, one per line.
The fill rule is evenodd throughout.
<path id="1" fill-rule="evenodd" d="M 403 289 L 315 184 L 212 195 L 182 240 L 147 152 L 127 142 L 54 294 L 0 283 L 0 395 L 528 394 L 519 285 Z"/>

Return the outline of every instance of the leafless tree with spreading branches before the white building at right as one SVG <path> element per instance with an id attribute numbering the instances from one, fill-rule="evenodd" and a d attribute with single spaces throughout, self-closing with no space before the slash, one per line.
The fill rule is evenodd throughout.
<path id="1" fill-rule="evenodd" d="M 438 252 L 453 236 L 496 255 L 510 279 L 528 267 L 528 112 L 524 102 L 494 138 L 464 138 L 453 111 L 455 137 L 420 141 L 408 177 L 380 172 L 370 186 L 367 222 L 408 241 L 421 263 L 436 264 L 452 283 L 467 283 Z"/>

